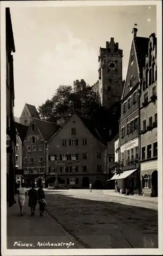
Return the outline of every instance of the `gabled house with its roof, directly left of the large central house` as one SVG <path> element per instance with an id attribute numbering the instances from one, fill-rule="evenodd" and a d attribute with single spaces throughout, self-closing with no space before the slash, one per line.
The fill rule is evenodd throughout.
<path id="1" fill-rule="evenodd" d="M 23 179 L 26 187 L 32 183 L 46 186 L 47 141 L 61 125 L 32 118 L 22 146 Z"/>

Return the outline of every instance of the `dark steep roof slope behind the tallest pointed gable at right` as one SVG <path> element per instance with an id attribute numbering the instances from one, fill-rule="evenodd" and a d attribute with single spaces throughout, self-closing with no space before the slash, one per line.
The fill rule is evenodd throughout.
<path id="1" fill-rule="evenodd" d="M 145 67 L 146 54 L 148 53 L 149 38 L 137 36 L 133 41 L 134 41 L 135 50 L 137 52 L 140 78 L 142 78 L 143 68 Z"/>

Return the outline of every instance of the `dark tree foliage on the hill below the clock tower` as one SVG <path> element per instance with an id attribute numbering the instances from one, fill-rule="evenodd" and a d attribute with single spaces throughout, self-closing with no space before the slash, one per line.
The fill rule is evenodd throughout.
<path id="1" fill-rule="evenodd" d="M 41 119 L 49 122 L 56 122 L 59 118 L 66 121 L 75 111 L 90 119 L 104 137 L 108 137 L 110 129 L 113 130 L 113 136 L 118 132 L 120 102 L 116 102 L 111 109 L 103 108 L 89 86 L 85 91 L 73 93 L 71 86 L 61 85 L 50 100 L 39 106 L 38 111 Z"/>

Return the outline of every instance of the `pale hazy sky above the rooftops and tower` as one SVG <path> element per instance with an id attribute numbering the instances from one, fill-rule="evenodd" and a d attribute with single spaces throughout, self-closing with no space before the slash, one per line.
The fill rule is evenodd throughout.
<path id="1" fill-rule="evenodd" d="M 134 24 L 138 36 L 156 33 L 156 6 L 10 8 L 14 56 L 14 116 L 24 104 L 38 108 L 60 84 L 98 80 L 100 47 L 114 37 L 123 50 L 126 79 Z"/>

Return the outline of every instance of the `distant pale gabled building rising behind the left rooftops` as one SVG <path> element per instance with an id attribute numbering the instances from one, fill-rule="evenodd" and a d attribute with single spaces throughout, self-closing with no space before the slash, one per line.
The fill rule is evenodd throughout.
<path id="1" fill-rule="evenodd" d="M 40 119 L 36 107 L 25 103 L 23 111 L 20 116 L 20 123 L 24 125 L 29 125 L 32 118 Z"/>

